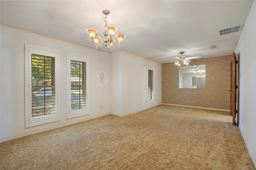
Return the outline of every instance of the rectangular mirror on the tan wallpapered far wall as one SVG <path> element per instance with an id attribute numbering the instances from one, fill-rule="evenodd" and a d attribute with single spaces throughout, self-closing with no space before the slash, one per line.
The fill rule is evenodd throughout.
<path id="1" fill-rule="evenodd" d="M 179 68 L 179 88 L 205 89 L 205 65 L 192 65 Z"/>

